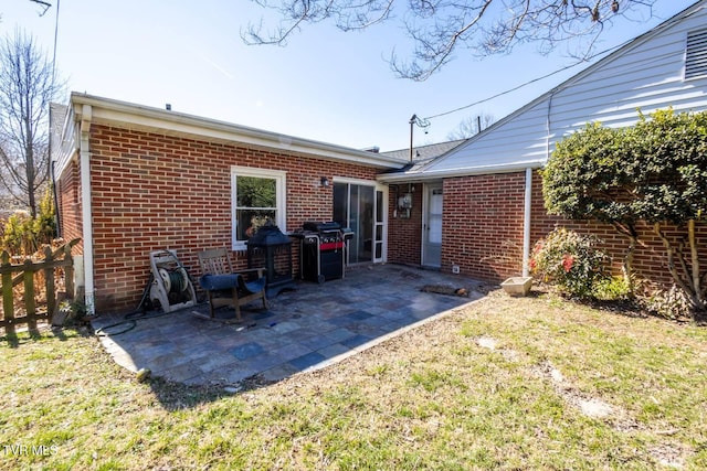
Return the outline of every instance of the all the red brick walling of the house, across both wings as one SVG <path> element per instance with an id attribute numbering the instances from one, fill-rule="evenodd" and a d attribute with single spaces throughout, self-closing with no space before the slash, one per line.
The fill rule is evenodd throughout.
<path id="1" fill-rule="evenodd" d="M 157 133 L 94 125 L 92 204 L 94 224 L 95 302 L 98 312 L 125 311 L 137 306 L 149 276 L 149 253 L 176 249 L 180 260 L 199 275 L 197 254 L 231 247 L 231 167 L 287 172 L 287 227 L 305 221 L 328 221 L 333 188 L 320 178 L 374 180 L 376 170 L 238 144 L 212 143 Z M 78 163 L 61 176 L 60 211 L 64 238 L 81 237 Z M 393 217 L 397 196 L 408 185 L 390 188 L 388 260 L 421 263 L 423 186 L 415 185 L 410 218 Z M 452 178 L 444 181 L 442 271 L 458 265 L 462 275 L 499 281 L 520 271 L 525 172 Z M 592 233 L 604 239 L 614 266 L 620 267 L 626 240 L 610 226 L 561 221 L 544 208 L 541 179 L 534 175 L 531 243 L 556 224 Z M 700 226 L 700 240 L 707 231 Z M 680 236 L 677 231 L 672 237 Z M 663 247 L 648 227 L 641 227 L 642 245 L 635 268 L 640 276 L 669 281 Z M 510 254 L 510 260 L 508 255 Z M 513 257 L 513 255 L 516 257 Z M 236 267 L 244 253 L 233 254 Z M 298 271 L 298 247 L 293 263 Z"/>

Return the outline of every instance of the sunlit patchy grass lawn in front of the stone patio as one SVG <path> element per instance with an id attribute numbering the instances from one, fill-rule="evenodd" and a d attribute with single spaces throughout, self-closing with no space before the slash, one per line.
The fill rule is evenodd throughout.
<path id="1" fill-rule="evenodd" d="M 0 340 L 0 469 L 707 469 L 707 328 L 486 299 L 226 394 L 80 332 Z"/>

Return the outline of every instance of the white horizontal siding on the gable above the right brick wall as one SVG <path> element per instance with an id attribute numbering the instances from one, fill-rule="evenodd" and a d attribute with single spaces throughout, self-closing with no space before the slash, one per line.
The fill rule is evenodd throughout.
<path id="1" fill-rule="evenodd" d="M 704 2 L 700 2 L 704 3 Z M 637 109 L 707 109 L 707 75 L 685 81 L 688 33 L 707 31 L 698 6 L 604 57 L 424 169 L 430 176 L 538 167 L 555 142 L 587 122 L 634 125 Z M 507 170 L 504 170 L 507 169 Z"/>

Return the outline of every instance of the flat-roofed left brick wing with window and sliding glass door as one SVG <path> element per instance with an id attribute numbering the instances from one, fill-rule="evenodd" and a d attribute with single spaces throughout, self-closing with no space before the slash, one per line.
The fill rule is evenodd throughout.
<path id="1" fill-rule="evenodd" d="M 173 249 L 196 269 L 200 250 L 230 247 L 245 268 L 238 214 L 247 208 L 235 194 L 246 179 L 272 184 L 283 232 L 356 206 L 351 261 L 384 260 L 388 189 L 376 175 L 402 168 L 400 159 L 85 94 L 72 94 L 52 118 L 63 122 L 52 139 L 61 235 L 82 238 L 91 311 L 135 308 L 151 250 Z M 297 272 L 296 244 L 293 251 Z"/>

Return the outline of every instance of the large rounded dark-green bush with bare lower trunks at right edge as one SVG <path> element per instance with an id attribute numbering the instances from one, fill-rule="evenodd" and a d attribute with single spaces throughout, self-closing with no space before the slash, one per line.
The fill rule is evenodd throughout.
<path id="1" fill-rule="evenodd" d="M 707 311 L 704 239 L 707 213 L 707 111 L 640 115 L 630 128 L 589 124 L 558 142 L 542 172 L 550 214 L 611 224 L 629 240 L 624 279 L 643 221 L 665 247 L 667 270 L 694 313 Z M 668 237 L 678 231 L 680 237 Z M 676 242 L 677 240 L 677 242 Z"/>

